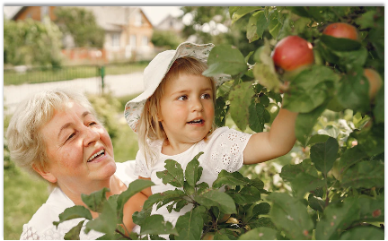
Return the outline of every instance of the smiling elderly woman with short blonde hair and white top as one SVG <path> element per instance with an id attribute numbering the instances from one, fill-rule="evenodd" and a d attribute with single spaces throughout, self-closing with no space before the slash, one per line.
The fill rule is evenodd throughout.
<path id="1" fill-rule="evenodd" d="M 110 136 L 97 119 L 83 94 L 70 90 L 42 91 L 26 99 L 15 110 L 6 137 L 11 159 L 22 169 L 46 180 L 53 191 L 31 220 L 24 224 L 21 239 L 64 239 L 79 219 L 53 226 L 58 215 L 74 205 L 86 205 L 81 194 L 108 187 L 121 194 L 134 181 L 134 161 L 114 160 Z M 141 211 L 146 197 L 138 193 L 124 206 L 124 224 L 128 230 L 138 226 L 132 214 Z M 98 213 L 92 212 L 95 219 Z M 84 222 L 84 225 L 87 221 Z M 81 239 L 96 239 L 103 234 L 82 231 Z"/>

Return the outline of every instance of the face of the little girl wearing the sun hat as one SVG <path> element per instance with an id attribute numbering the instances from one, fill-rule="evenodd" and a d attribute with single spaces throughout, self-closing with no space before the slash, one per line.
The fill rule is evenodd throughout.
<path id="1" fill-rule="evenodd" d="M 215 116 L 211 80 L 181 73 L 164 85 L 158 120 L 169 142 L 195 143 L 210 131 Z"/>

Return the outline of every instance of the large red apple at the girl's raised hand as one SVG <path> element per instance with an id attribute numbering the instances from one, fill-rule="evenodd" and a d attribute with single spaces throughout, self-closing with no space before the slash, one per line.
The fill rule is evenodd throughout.
<path id="1" fill-rule="evenodd" d="M 272 59 L 278 73 L 284 72 L 284 75 L 292 78 L 313 65 L 313 45 L 299 36 L 287 36 L 278 41 L 272 52 Z"/>

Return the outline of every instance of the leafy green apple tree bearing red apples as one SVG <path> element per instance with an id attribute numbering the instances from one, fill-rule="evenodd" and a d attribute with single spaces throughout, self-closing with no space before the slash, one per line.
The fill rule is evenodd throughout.
<path id="1" fill-rule="evenodd" d="M 119 224 L 123 203 L 154 185 L 145 180 L 109 200 L 101 199 L 106 190 L 84 195 L 101 212 L 97 219 L 73 207 L 56 224 L 90 219 L 85 230 L 109 239 L 384 239 L 384 6 L 231 6 L 229 13 L 233 24 L 249 16 L 247 40 L 264 44 L 247 56 L 231 45 L 211 50 L 203 74 L 233 77 L 217 90 L 216 125 L 230 114 L 240 130 L 263 132 L 280 106 L 298 112 L 303 159 L 279 173 L 290 190 L 268 191 L 242 171 L 198 183 L 198 153 L 185 170 L 165 161 L 157 176 L 177 188 L 151 195 L 133 215 L 139 234 Z M 150 215 L 153 205 L 180 211 L 188 204 L 175 227 Z M 83 223 L 67 238 L 79 237 Z"/>

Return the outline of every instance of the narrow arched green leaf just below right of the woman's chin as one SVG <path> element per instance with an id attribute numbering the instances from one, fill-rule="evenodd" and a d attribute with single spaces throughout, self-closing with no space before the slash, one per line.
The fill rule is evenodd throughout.
<path id="1" fill-rule="evenodd" d="M 123 219 L 124 205 L 128 202 L 129 198 L 152 185 L 154 185 L 154 183 L 150 180 L 137 179 L 128 185 L 128 189 L 126 191 L 119 194 L 117 199 L 117 213 L 120 221 Z"/>

